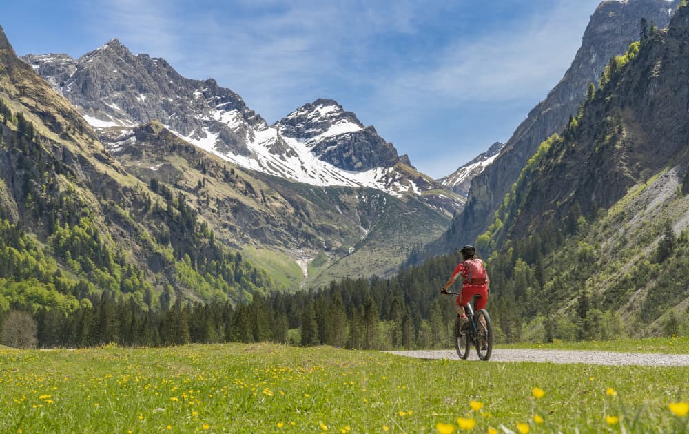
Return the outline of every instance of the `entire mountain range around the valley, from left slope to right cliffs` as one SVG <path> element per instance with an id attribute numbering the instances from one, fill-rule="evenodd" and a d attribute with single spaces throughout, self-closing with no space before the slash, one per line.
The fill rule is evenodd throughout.
<path id="1" fill-rule="evenodd" d="M 336 101 L 267 125 L 116 40 L 21 61 L 0 29 L 0 311 L 234 305 L 336 278 L 377 288 L 351 315 L 396 302 L 380 318 L 420 327 L 454 315 L 437 298 L 453 256 L 351 277 L 474 234 L 499 340 L 671 334 L 689 309 L 689 8 L 674 6 L 601 3 L 513 138 L 438 181 Z"/>

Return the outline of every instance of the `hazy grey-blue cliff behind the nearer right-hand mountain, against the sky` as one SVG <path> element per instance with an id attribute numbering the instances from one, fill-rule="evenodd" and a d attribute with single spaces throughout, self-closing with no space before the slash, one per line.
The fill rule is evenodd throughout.
<path id="1" fill-rule="evenodd" d="M 659 28 L 668 25 L 677 1 L 603 1 L 591 16 L 574 61 L 547 98 L 529 112 L 493 164 L 471 181 L 464 211 L 453 221 L 451 231 L 435 242 L 427 254 L 452 251 L 473 242 L 493 221 L 500 206 L 528 158 L 539 144 L 561 132 L 568 117 L 576 114 L 589 83 L 597 83 L 610 57 L 626 52 L 639 39 L 640 21 L 645 17 Z"/>

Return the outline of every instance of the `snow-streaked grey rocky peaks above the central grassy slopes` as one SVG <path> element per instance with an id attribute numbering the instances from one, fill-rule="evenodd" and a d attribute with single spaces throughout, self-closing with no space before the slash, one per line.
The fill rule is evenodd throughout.
<path id="1" fill-rule="evenodd" d="M 44 79 L 101 133 L 159 121 L 181 138 L 247 169 L 318 186 L 372 187 L 422 196 L 451 216 L 459 196 L 415 171 L 409 158 L 337 102 L 318 99 L 269 126 L 238 94 L 180 76 L 164 59 L 134 56 L 117 39 L 71 59 L 28 55 Z"/>

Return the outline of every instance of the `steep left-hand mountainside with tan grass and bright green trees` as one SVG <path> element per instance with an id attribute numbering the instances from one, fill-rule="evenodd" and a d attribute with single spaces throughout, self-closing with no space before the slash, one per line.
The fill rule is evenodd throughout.
<path id="1" fill-rule="evenodd" d="M 274 286 L 217 245 L 183 197 L 127 174 L 1 29 L 0 121 L 0 310 L 68 312 L 101 294 L 143 307 L 238 302 Z"/>

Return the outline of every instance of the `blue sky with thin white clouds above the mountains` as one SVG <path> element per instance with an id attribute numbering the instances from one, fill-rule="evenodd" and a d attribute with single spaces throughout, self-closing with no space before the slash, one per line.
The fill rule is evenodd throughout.
<path id="1" fill-rule="evenodd" d="M 37 0 L 3 5 L 20 56 L 116 37 L 214 78 L 269 123 L 320 97 L 440 178 L 505 142 L 570 65 L 599 1 Z"/>

